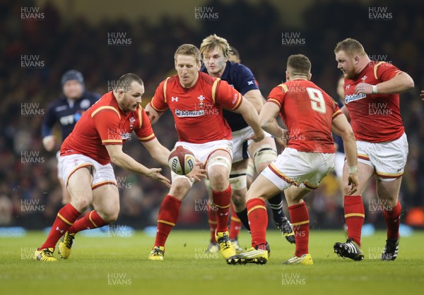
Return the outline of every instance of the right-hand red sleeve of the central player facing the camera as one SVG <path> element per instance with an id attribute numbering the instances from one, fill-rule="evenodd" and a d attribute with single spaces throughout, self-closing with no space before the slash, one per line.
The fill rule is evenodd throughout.
<path id="1" fill-rule="evenodd" d="M 243 96 L 226 81 L 217 78 L 212 85 L 212 99 L 225 109 L 235 110 L 242 104 Z"/>

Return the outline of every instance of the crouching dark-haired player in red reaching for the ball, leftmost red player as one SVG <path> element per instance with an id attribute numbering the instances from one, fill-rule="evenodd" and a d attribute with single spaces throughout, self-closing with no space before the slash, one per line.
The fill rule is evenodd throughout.
<path id="1" fill-rule="evenodd" d="M 71 202 L 59 210 L 47 240 L 37 248 L 34 259 L 57 261 L 53 252 L 61 236 L 64 239 L 59 252 L 62 258 L 68 258 L 76 232 L 103 227 L 117 219 L 119 193 L 110 162 L 170 186 L 170 181 L 160 174 L 160 168 L 148 169 L 122 151 L 122 143 L 130 140 L 134 131 L 150 155 L 167 166 L 170 151 L 155 138 L 151 122 L 140 105 L 143 93 L 143 81 L 132 73 L 125 74 L 113 91 L 103 95 L 83 114 L 64 140 L 59 161 Z M 95 210 L 76 221 L 91 204 Z"/>

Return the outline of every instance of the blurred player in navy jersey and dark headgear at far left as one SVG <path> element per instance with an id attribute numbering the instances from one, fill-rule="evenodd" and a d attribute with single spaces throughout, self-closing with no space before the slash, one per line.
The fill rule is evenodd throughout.
<path id="1" fill-rule="evenodd" d="M 57 137 L 53 135 L 53 127 L 58 124 L 61 131 L 61 139 L 64 140 L 73 130 L 78 119 L 100 99 L 97 93 L 88 92 L 84 87 L 83 74 L 75 70 L 69 70 L 61 77 L 63 95 L 49 105 L 47 114 L 42 122 L 42 144 L 49 152 L 60 147 Z M 58 155 L 59 156 L 59 155 Z M 60 175 L 59 162 L 57 177 L 61 186 L 62 204 L 69 203 L 71 197 Z"/>

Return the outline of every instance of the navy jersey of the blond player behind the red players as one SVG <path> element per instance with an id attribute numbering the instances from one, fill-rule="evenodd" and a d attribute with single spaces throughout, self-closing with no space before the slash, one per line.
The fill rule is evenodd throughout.
<path id="1" fill-rule="evenodd" d="M 208 73 L 205 66 L 202 66 L 200 71 Z M 242 95 L 245 95 L 250 90 L 259 89 L 252 71 L 242 64 L 227 61 L 223 76 L 220 78 L 227 81 L 232 88 L 235 88 Z M 227 120 L 228 125 L 230 125 L 231 131 L 238 131 L 249 126 L 241 114 L 224 109 L 223 116 Z"/>

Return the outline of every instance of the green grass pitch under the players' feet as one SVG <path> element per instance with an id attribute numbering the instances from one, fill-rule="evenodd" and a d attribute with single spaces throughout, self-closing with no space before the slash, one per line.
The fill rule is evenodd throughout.
<path id="1" fill-rule="evenodd" d="M 40 263 L 35 247 L 46 235 L 0 238 L 0 294 L 424 294 L 424 233 L 403 237 L 396 261 L 380 261 L 385 233 L 363 238 L 365 260 L 343 260 L 333 244 L 343 231 L 311 230 L 314 265 L 282 265 L 294 246 L 269 231 L 271 258 L 266 265 L 227 265 L 204 255 L 208 231 L 172 231 L 165 261 L 148 261 L 154 238 L 143 231 L 131 237 L 76 236 L 68 260 Z M 250 244 L 240 234 L 240 244 Z M 55 256 L 58 258 L 57 251 Z"/>

